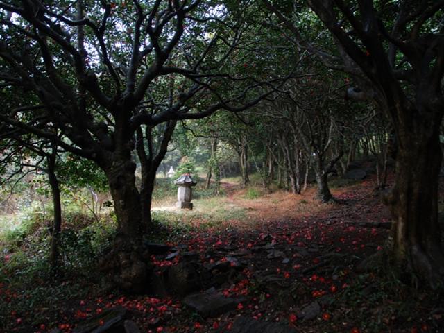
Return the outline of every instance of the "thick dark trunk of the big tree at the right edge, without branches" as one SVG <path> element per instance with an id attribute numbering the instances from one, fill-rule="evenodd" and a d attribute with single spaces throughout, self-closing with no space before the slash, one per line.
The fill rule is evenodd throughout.
<path id="1" fill-rule="evenodd" d="M 384 198 L 393 217 L 388 244 L 395 262 L 429 281 L 432 287 L 442 285 L 444 275 L 438 223 L 440 121 L 436 123 L 416 124 L 413 133 L 398 130 L 395 187 Z"/>

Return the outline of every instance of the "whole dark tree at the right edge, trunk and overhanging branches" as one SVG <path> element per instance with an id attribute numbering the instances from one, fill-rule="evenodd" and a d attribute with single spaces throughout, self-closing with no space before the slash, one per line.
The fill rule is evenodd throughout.
<path id="1" fill-rule="evenodd" d="M 293 2 L 293 1 L 291 1 Z M 388 253 L 397 266 L 443 281 L 438 225 L 439 128 L 444 112 L 443 1 L 308 1 L 332 33 L 337 53 L 307 42 L 298 22 L 266 6 L 292 31 L 296 44 L 352 75 L 360 99 L 372 99 L 390 119 L 397 143 L 395 185 L 384 202 L 393 215 Z"/>

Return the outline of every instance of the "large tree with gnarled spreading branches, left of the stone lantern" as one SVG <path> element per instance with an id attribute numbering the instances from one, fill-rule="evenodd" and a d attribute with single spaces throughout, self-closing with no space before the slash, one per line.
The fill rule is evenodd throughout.
<path id="1" fill-rule="evenodd" d="M 176 121 L 245 110 L 281 80 L 235 71 L 242 58 L 232 59 L 248 44 L 242 23 L 248 3 L 225 5 L 0 1 L 0 85 L 32 96 L 2 109 L 0 121 L 103 170 L 118 227 L 102 268 L 124 289 L 145 285 L 141 239 L 151 221 L 155 171 Z M 255 58 L 254 49 L 248 54 Z M 48 124 L 60 135 L 45 130 Z M 162 133 L 157 142 L 155 131 Z M 133 151 L 142 164 L 140 191 Z"/>

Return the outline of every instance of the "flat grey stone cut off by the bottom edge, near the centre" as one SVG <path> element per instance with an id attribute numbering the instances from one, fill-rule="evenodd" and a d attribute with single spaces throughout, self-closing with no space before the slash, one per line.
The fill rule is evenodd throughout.
<path id="1" fill-rule="evenodd" d="M 225 332 L 225 328 L 217 332 Z M 298 333 L 298 331 L 289 325 L 257 321 L 254 318 L 240 316 L 234 321 L 230 333 Z"/>

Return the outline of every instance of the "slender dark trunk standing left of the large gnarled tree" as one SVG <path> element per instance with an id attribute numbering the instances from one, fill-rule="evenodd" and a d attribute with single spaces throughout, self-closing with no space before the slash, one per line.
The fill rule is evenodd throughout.
<path id="1" fill-rule="evenodd" d="M 51 192 L 53 196 L 53 207 L 54 207 L 54 221 L 53 228 L 51 230 L 51 251 L 49 254 L 49 262 L 51 263 L 51 268 L 53 271 L 58 267 L 58 257 L 59 257 L 59 238 L 60 229 L 62 227 L 62 206 L 60 203 L 60 187 L 58 179 L 56 176 L 56 157 L 57 157 L 57 147 L 53 147 L 53 153 L 47 157 L 48 161 L 48 179 L 49 185 L 51 186 Z"/>

